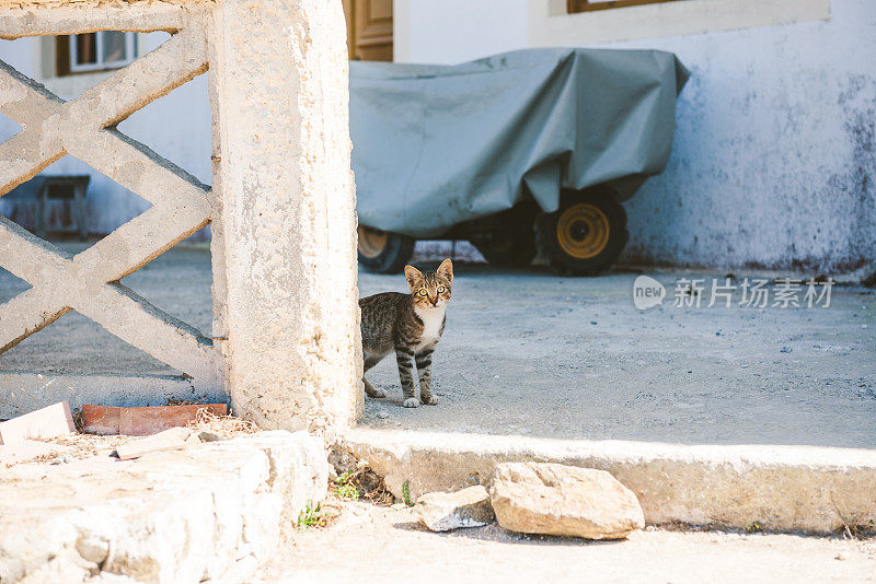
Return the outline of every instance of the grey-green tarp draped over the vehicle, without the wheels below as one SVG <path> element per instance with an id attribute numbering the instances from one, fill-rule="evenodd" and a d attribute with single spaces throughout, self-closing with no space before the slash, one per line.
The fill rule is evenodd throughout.
<path id="1" fill-rule="evenodd" d="M 458 66 L 350 62 L 359 221 L 438 236 L 526 190 L 609 184 L 621 200 L 664 170 L 688 71 L 658 50 L 531 49 Z"/>

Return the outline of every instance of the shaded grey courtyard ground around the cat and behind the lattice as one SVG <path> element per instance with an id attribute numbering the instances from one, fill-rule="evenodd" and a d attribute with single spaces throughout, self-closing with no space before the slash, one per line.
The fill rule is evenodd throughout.
<path id="1" fill-rule="evenodd" d="M 565 278 L 543 268 L 460 264 L 433 379 L 441 404 L 404 409 L 394 360 L 369 379 L 362 423 L 389 429 L 688 444 L 876 447 L 876 295 L 834 287 L 828 308 L 638 311 L 636 273 Z M 749 273 L 737 273 L 739 280 Z M 178 247 L 123 281 L 201 330 L 210 328 L 206 247 Z M 360 273 L 361 295 L 404 290 Z M 26 288 L 0 273 L 0 301 Z M 737 293 L 738 300 L 738 293 Z M 0 355 L 1 370 L 173 373 L 77 314 Z"/>

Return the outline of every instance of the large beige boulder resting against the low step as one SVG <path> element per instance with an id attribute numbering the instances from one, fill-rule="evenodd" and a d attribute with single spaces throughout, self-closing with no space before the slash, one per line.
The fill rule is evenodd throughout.
<path id="1" fill-rule="evenodd" d="M 604 470 L 504 463 L 489 494 L 499 525 L 512 532 L 621 539 L 645 526 L 636 495 Z"/>

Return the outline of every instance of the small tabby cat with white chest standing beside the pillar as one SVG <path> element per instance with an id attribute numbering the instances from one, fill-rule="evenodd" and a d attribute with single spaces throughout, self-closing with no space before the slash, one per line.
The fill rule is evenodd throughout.
<path id="1" fill-rule="evenodd" d="M 434 272 L 423 273 L 413 266 L 404 267 L 410 294 L 383 292 L 359 300 L 362 311 L 362 357 L 365 371 L 377 365 L 390 351 L 395 351 L 402 382 L 404 407 L 416 408 L 420 401 L 435 406 L 431 394 L 431 353 L 445 330 L 445 308 L 450 300 L 453 264 L 443 260 Z M 411 360 L 419 373 L 419 399 L 414 387 Z M 385 397 L 387 392 L 365 382 L 371 397 Z"/>

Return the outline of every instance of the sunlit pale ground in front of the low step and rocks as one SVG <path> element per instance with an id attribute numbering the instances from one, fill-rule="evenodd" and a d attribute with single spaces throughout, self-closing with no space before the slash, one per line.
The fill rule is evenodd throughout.
<path id="1" fill-rule="evenodd" d="M 332 550 L 326 553 L 325 550 Z M 624 541 L 528 537 L 486 527 L 435 534 L 410 510 L 341 504 L 295 536 L 261 583 L 874 582 L 876 540 L 648 528 Z"/>

